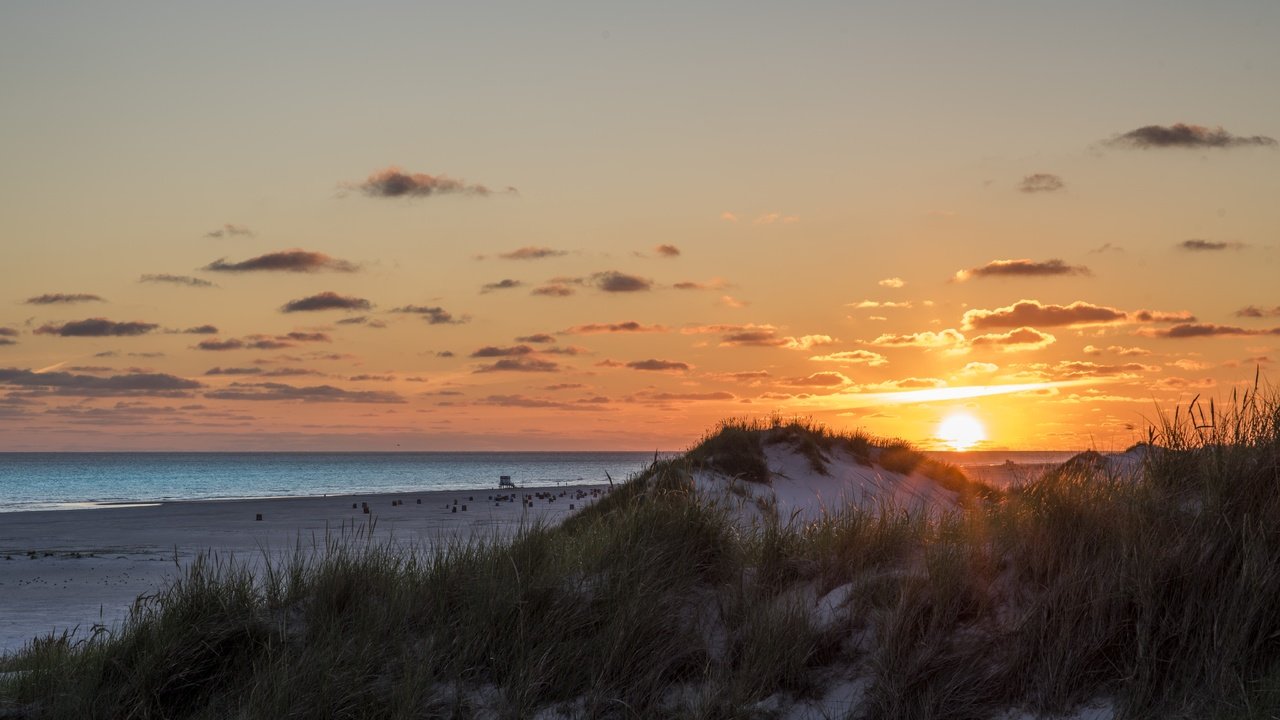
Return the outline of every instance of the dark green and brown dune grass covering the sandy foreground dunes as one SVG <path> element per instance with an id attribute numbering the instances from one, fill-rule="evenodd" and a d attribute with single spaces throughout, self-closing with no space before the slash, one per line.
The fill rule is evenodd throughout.
<path id="1" fill-rule="evenodd" d="M 1275 400 L 1196 402 L 1135 471 L 1087 457 L 951 514 L 748 529 L 698 500 L 695 470 L 746 478 L 783 441 L 854 442 L 732 423 L 509 542 L 205 559 L 115 633 L 0 661 L 0 716 L 769 717 L 851 680 L 827 716 L 1280 715 Z"/>

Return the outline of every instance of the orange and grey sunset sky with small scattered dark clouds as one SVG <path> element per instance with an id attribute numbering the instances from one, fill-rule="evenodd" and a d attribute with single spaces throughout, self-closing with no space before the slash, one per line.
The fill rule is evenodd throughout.
<path id="1" fill-rule="evenodd" d="M 1123 450 L 1275 375 L 1277 31 L 1252 0 L 4 4 L 0 451 L 771 416 Z"/>

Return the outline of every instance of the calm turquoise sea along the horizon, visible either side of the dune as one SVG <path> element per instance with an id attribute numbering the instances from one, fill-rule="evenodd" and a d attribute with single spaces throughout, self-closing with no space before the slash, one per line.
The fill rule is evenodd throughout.
<path id="1" fill-rule="evenodd" d="M 0 452 L 0 512 L 120 503 L 603 484 L 654 452 Z M 960 466 L 1061 462 L 1074 452 L 929 452 Z"/>

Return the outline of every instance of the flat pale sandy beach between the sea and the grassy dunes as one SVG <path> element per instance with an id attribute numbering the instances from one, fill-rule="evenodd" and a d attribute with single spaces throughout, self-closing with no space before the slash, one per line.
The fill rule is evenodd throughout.
<path id="1" fill-rule="evenodd" d="M 375 539 L 426 547 L 558 523 L 607 489 L 526 487 L 6 512 L 0 515 L 0 652 L 50 630 L 111 626 L 140 594 L 164 587 L 204 551 L 257 560 L 300 542 L 323 543 L 326 533 L 367 529 L 370 521 Z M 518 493 L 515 500 L 494 500 L 512 492 Z M 520 496 L 534 498 L 526 505 Z"/>

